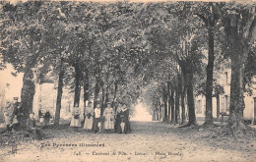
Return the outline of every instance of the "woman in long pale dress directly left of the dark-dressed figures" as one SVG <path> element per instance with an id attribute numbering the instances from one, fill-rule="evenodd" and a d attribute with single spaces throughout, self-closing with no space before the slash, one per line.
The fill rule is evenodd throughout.
<path id="1" fill-rule="evenodd" d="M 107 106 L 103 112 L 104 117 L 104 130 L 110 131 L 114 129 L 114 110 L 111 107 L 111 103 L 108 102 Z"/>

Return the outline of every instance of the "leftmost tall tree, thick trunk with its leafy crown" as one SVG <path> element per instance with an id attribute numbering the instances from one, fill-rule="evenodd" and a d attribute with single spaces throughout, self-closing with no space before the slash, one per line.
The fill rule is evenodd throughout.
<path id="1" fill-rule="evenodd" d="M 21 101 L 25 118 L 32 112 L 35 92 L 34 70 L 38 59 L 47 51 L 45 41 L 46 22 L 43 12 L 47 10 L 41 1 L 17 3 L 4 2 L 1 6 L 1 48 L 5 61 L 24 72 Z"/>

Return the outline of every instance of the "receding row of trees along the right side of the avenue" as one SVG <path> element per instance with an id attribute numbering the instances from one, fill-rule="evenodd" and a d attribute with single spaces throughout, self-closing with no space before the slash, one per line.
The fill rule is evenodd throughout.
<path id="1" fill-rule="evenodd" d="M 187 127 L 197 125 L 194 95 L 203 94 L 206 96 L 203 127 L 212 127 L 212 98 L 215 96 L 220 102 L 220 94 L 224 93 L 224 88 L 217 82 L 218 71 L 230 59 L 229 128 L 234 135 L 244 133 L 248 128 L 242 118 L 243 95 L 248 90 L 245 85 L 251 83 L 256 72 L 251 67 L 252 62 L 255 63 L 255 59 L 252 59 L 252 56 L 255 58 L 255 4 L 178 3 L 174 6 L 176 10 L 168 8 L 165 16 L 174 15 L 177 20 L 172 19 L 170 27 L 166 27 L 164 22 L 155 34 L 156 41 L 152 41 L 165 58 L 160 60 L 159 69 L 155 70 L 161 76 L 151 71 L 151 75 L 156 75 L 157 79 L 152 78 L 153 83 L 145 90 L 145 100 L 154 112 L 160 113 L 162 107 L 162 119 L 171 123 L 179 122 L 181 111 L 180 123 L 184 124 L 186 97 L 189 121 L 182 127 Z M 218 109 L 220 112 L 220 107 Z"/>

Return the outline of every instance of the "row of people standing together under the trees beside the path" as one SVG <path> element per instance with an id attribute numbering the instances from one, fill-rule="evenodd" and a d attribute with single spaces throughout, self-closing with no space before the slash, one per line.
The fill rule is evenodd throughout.
<path id="1" fill-rule="evenodd" d="M 84 114 L 81 114 L 81 110 L 76 104 L 72 111 L 70 127 L 74 127 L 74 131 L 77 131 L 78 128 L 82 127 L 82 124 L 84 124 L 83 128 L 85 130 L 93 130 L 95 133 L 100 133 L 101 128 L 109 133 L 112 131 L 119 134 L 131 132 L 129 109 L 123 102 L 118 103 L 116 110 L 112 108 L 111 102 L 107 102 L 102 116 L 98 102 L 96 102 L 96 108 L 94 108 L 92 102 L 89 101 Z"/>

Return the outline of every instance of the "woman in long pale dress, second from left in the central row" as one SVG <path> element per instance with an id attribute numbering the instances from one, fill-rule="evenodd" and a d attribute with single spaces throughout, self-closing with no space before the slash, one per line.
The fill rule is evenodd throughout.
<path id="1" fill-rule="evenodd" d="M 94 123 L 94 107 L 92 106 L 92 102 L 89 101 L 88 106 L 85 109 L 85 124 L 84 129 L 85 130 L 92 130 L 93 129 L 93 123 Z"/>

